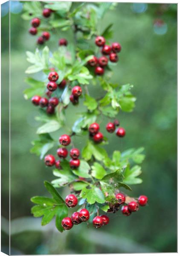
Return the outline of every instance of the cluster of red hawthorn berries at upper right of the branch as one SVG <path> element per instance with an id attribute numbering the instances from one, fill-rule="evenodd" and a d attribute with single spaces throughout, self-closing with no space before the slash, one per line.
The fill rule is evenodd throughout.
<path id="1" fill-rule="evenodd" d="M 105 72 L 104 68 L 107 66 L 109 60 L 111 62 L 118 61 L 119 58 L 117 53 L 121 51 L 121 45 L 119 43 L 113 43 L 111 46 L 107 45 L 105 44 L 106 40 L 103 36 L 97 36 L 95 43 L 98 47 L 102 47 L 101 52 L 103 56 L 100 58 L 93 56 L 93 58 L 88 61 L 88 64 L 91 67 L 95 67 L 94 72 L 96 75 L 102 76 Z M 104 55 L 109 55 L 109 59 Z"/>

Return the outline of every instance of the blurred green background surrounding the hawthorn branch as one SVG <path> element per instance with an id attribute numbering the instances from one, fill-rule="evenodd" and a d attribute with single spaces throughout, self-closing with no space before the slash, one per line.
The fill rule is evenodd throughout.
<path id="1" fill-rule="evenodd" d="M 13 7 L 14 2 L 14 7 Z M 113 68 L 113 82 L 134 84 L 137 97 L 133 113 L 119 113 L 127 131 L 123 140 L 109 135 L 106 147 L 113 150 L 145 147 L 142 164 L 143 183 L 132 186 L 130 195 L 148 195 L 149 205 L 130 217 L 109 214 L 110 224 L 102 229 L 87 229 L 86 224 L 58 233 L 53 223 L 40 226 L 40 219 L 30 213 L 34 195 L 46 195 L 44 180 L 54 179 L 51 169 L 30 154 L 31 141 L 37 138 L 38 114 L 30 101 L 23 98 L 28 87 L 24 71 L 28 67 L 26 50 L 34 51 L 35 38 L 28 33 L 29 21 L 21 19 L 21 3 L 12 1 L 10 96 L 11 96 L 11 254 L 72 254 L 72 253 L 138 253 L 177 251 L 177 5 L 118 3 L 101 20 L 102 30 L 113 23 L 113 41 L 122 44 L 119 63 Z M 18 8 L 17 8 L 18 6 Z M 2 11 L 2 9 L 1 9 Z M 159 22 L 156 19 L 160 19 Z M 155 23 L 154 23 L 154 20 Z M 163 21 L 162 21 L 163 20 Z M 8 77 L 9 15 L 3 7 L 2 74 Z M 71 32 L 59 32 L 47 45 L 53 51 L 58 39 L 71 41 Z M 99 95 L 89 85 L 90 93 Z M 2 83 L 2 145 L 1 159 L 6 163 L 8 150 L 7 95 L 8 83 Z M 6 97 L 5 97 L 6 96 Z M 67 125 L 77 119 L 83 106 L 67 108 Z M 108 119 L 102 119 L 102 127 Z M 105 129 L 102 131 L 105 132 Z M 63 130 L 61 134 L 63 133 Z M 52 134 L 58 138 L 60 134 Z M 107 136 L 107 133 L 106 133 Z M 82 147 L 81 140 L 75 145 Z M 2 171 L 8 184 L 8 168 Z M 8 219 L 8 185 L 2 191 L 2 215 Z M 68 189 L 61 191 L 65 196 Z M 8 249 L 8 235 L 3 232 L 2 250 Z"/>

